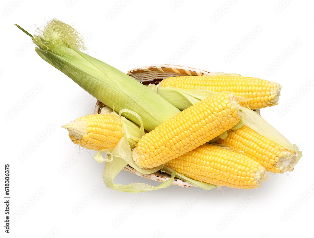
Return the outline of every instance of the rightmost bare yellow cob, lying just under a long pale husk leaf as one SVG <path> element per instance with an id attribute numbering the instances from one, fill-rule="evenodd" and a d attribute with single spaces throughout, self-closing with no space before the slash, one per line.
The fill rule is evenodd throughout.
<path id="1" fill-rule="evenodd" d="M 268 140 L 247 126 L 238 130 L 230 130 L 225 139 L 219 138 L 219 144 L 225 144 L 230 149 L 250 155 L 261 163 L 268 172 L 284 173 L 292 171 L 297 154 L 283 146 Z"/>

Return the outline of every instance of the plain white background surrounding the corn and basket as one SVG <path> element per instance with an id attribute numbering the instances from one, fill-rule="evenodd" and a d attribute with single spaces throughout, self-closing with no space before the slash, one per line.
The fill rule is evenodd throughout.
<path id="1" fill-rule="evenodd" d="M 313 7 L 310 0 L 3 0 L 0 197 L 8 163 L 11 222 L 10 234 L 4 233 L 3 201 L 1 237 L 262 238 L 311 231 Z M 124 72 L 174 63 L 279 82 L 279 105 L 261 114 L 303 157 L 293 172 L 252 190 L 107 189 L 104 164 L 80 152 L 61 128 L 93 112 L 96 99 L 43 61 L 14 26 L 34 34 L 35 25 L 52 18 L 73 23 L 92 56 Z M 158 184 L 125 171 L 115 182 Z"/>

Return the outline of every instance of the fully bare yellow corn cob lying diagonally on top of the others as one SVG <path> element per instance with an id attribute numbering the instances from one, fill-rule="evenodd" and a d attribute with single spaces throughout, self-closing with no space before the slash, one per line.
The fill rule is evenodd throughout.
<path id="1" fill-rule="evenodd" d="M 237 106 L 227 92 L 199 101 L 146 133 L 133 149 L 133 160 L 141 168 L 155 168 L 209 142 L 239 122 Z"/>

